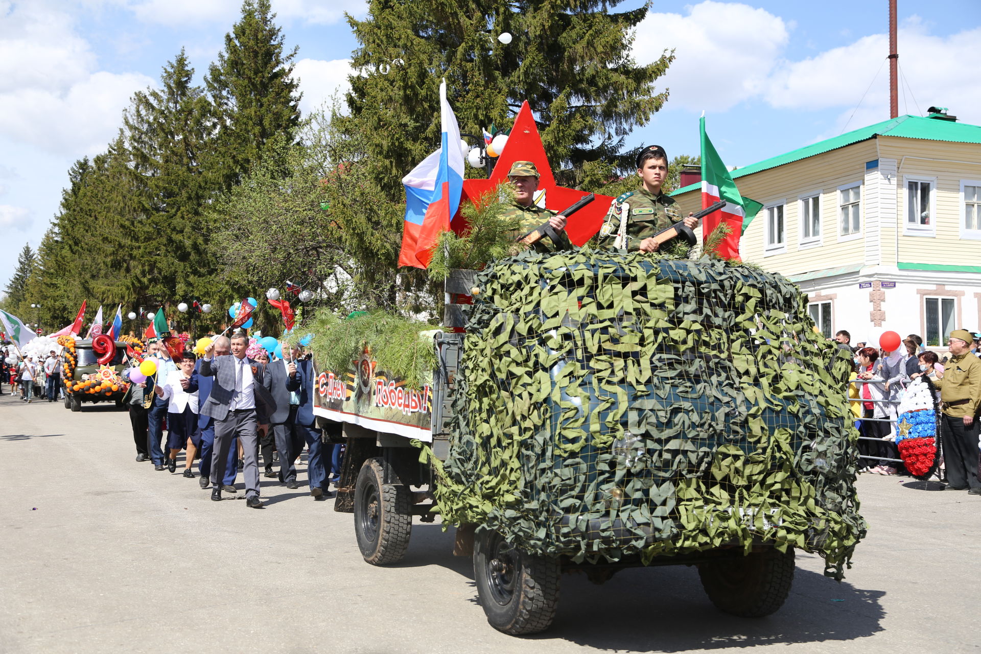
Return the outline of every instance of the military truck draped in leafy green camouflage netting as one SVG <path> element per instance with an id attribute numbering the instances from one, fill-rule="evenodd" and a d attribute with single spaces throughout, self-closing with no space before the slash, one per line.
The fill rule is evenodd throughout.
<path id="1" fill-rule="evenodd" d="M 321 375 L 318 394 L 343 398 L 319 412 L 345 423 L 336 510 L 354 513 L 366 561 L 398 561 L 413 516 L 439 514 L 512 634 L 549 626 L 565 572 L 695 565 L 711 601 L 746 617 L 783 604 L 796 549 L 842 579 L 865 530 L 849 362 L 786 278 L 583 250 L 451 282 L 472 296 L 466 330 L 436 335 L 415 400 L 378 396 L 400 386 L 370 363 Z M 345 411 L 359 392 L 365 409 Z M 392 427 L 409 419 L 386 402 L 415 406 L 415 423 Z"/>

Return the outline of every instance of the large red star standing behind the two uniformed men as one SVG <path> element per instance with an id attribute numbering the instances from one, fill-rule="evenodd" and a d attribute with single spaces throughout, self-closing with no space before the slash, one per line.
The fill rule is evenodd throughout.
<path id="1" fill-rule="evenodd" d="M 494 165 L 490 177 L 487 179 L 464 179 L 460 202 L 468 199 L 473 202 L 497 184 L 507 181 L 507 172 L 511 170 L 511 164 L 516 161 L 530 161 L 535 164 L 540 175 L 539 188 L 545 189 L 545 207 L 552 211 L 562 211 L 587 194 L 585 191 L 566 188 L 555 183 L 555 176 L 552 175 L 548 158 L 545 157 L 545 148 L 542 145 L 539 128 L 535 125 L 535 117 L 532 116 L 532 109 L 526 101 L 521 105 L 521 111 L 518 112 L 518 117 L 508 135 L 507 145 L 497 157 L 497 163 Z M 608 195 L 596 194 L 596 199 L 593 202 L 569 218 L 565 232 L 574 244 L 582 245 L 599 231 L 612 199 Z M 454 227 L 456 224 L 462 226 L 462 222 L 453 221 L 453 223 Z"/>

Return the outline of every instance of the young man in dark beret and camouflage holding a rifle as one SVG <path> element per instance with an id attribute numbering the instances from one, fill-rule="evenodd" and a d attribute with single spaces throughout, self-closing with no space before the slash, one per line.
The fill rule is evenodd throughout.
<path id="1" fill-rule="evenodd" d="M 610 204 L 603 226 L 599 229 L 599 247 L 621 248 L 631 252 L 655 252 L 657 243 L 651 236 L 682 220 L 675 201 L 661 192 L 668 175 L 668 156 L 659 145 L 648 145 L 637 156 L 637 176 L 641 185 L 624 193 Z M 698 221 L 689 214 L 685 225 L 694 228 Z M 623 221 L 626 220 L 626 228 Z"/>

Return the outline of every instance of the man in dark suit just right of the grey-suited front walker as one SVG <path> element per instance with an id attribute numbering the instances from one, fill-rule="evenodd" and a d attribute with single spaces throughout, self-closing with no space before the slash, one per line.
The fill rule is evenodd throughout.
<path id="1" fill-rule="evenodd" d="M 296 363 L 291 358 L 270 363 L 263 383 L 273 399 L 268 418 L 280 453 L 280 482 L 286 488 L 295 489 L 298 485 L 293 461 L 303 451 L 303 434 L 296 428 L 296 409 L 300 403 Z"/>

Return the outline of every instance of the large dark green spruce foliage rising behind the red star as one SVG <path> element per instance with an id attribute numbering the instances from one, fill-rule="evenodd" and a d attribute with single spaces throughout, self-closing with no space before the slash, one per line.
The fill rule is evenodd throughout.
<path id="1" fill-rule="evenodd" d="M 630 57 L 632 28 L 647 5 L 608 12 L 619 0 L 372 0 L 363 21 L 348 19 L 360 47 L 347 95 L 350 131 L 373 135 L 383 190 L 394 200 L 398 180 L 439 142 L 434 121 L 445 77 L 461 131 L 491 123 L 508 127 L 524 100 L 560 180 L 575 182 L 585 162 L 616 159 L 623 137 L 644 125 L 667 98 L 654 80 L 673 59 L 647 66 Z M 513 34 L 504 45 L 495 37 Z"/>

